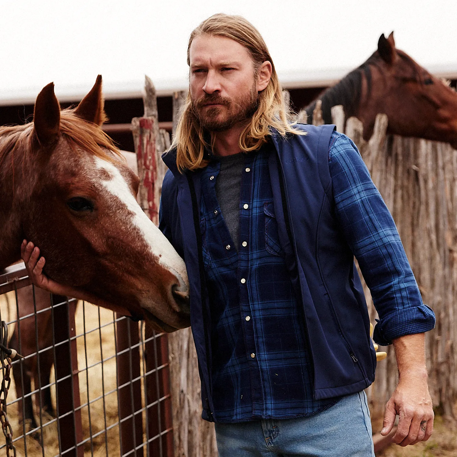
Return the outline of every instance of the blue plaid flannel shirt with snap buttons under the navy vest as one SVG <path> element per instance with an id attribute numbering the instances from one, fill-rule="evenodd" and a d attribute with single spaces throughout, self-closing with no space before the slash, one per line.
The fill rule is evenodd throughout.
<path id="1" fill-rule="evenodd" d="M 385 213 L 382 200 L 376 208 L 364 205 L 365 194 L 372 196 L 377 191 L 374 186 L 361 186 L 358 170 L 365 165 L 353 143 L 338 138 L 339 133 L 332 134 L 329 149 L 337 217 L 346 236 L 351 237 L 348 243 L 357 257 L 378 255 L 378 270 L 383 272 L 380 290 L 394 287 L 395 300 L 407 304 L 406 292 L 417 285 L 412 273 L 406 284 L 395 283 L 396 262 L 407 263 L 395 225 Z M 273 210 L 268 170 L 272 148 L 266 144 L 258 153 L 246 154 L 238 253 L 216 197 L 218 160 L 210 162 L 201 175 L 202 250 L 211 308 L 213 414 L 218 422 L 306 416 L 338 401 L 313 397 L 313 367 L 303 311 L 284 262 Z M 370 198 L 372 205 L 376 201 Z M 376 215 L 374 231 L 372 214 Z M 384 250 L 386 243 L 390 246 Z M 427 314 L 429 308 L 424 305 L 413 309 L 415 314 Z M 397 316 L 391 323 L 393 327 L 406 329 L 393 329 L 392 333 L 404 335 L 433 328 L 433 312 L 429 311 L 425 316 Z M 413 324 L 409 325 L 409 318 Z"/>

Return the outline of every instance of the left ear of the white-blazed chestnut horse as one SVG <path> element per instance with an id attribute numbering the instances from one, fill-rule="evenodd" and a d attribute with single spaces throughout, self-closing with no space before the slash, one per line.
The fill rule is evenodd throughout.
<path id="1" fill-rule="evenodd" d="M 54 83 L 43 87 L 35 101 L 33 124 L 38 142 L 45 146 L 52 143 L 60 130 L 60 105 L 54 94 Z"/>

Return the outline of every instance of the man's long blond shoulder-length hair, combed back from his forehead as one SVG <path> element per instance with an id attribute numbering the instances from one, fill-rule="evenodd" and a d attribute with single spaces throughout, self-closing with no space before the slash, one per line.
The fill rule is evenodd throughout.
<path id="1" fill-rule="evenodd" d="M 259 31 L 249 21 L 242 16 L 227 14 L 215 14 L 203 21 L 189 38 L 188 65 L 190 65 L 192 40 L 203 34 L 227 37 L 243 45 L 248 49 L 255 69 L 258 69 L 266 60 L 272 66 L 271 80 L 266 88 L 259 92 L 257 110 L 239 137 L 241 151 L 249 152 L 259 149 L 263 143 L 266 143 L 271 128 L 276 129 L 282 136 L 287 133 L 304 134 L 303 131 L 294 128 L 294 123 L 291 123 L 273 60 Z M 173 141 L 173 146 L 177 149 L 176 165 L 181 172 L 184 169 L 196 170 L 205 167 L 207 161 L 204 160 L 204 149 L 213 146 L 208 144 L 206 132 L 200 126 L 191 107 L 192 99 L 189 90 Z"/>

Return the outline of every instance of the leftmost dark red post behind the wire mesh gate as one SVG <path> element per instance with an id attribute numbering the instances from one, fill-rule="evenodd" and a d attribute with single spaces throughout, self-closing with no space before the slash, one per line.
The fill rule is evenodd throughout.
<path id="1" fill-rule="evenodd" d="M 61 455 L 84 457 L 78 378 L 78 351 L 74 323 L 76 300 L 52 294 L 55 344 L 54 369 Z M 70 413 L 70 414 L 68 414 Z M 64 416 L 64 417 L 62 417 Z"/>

